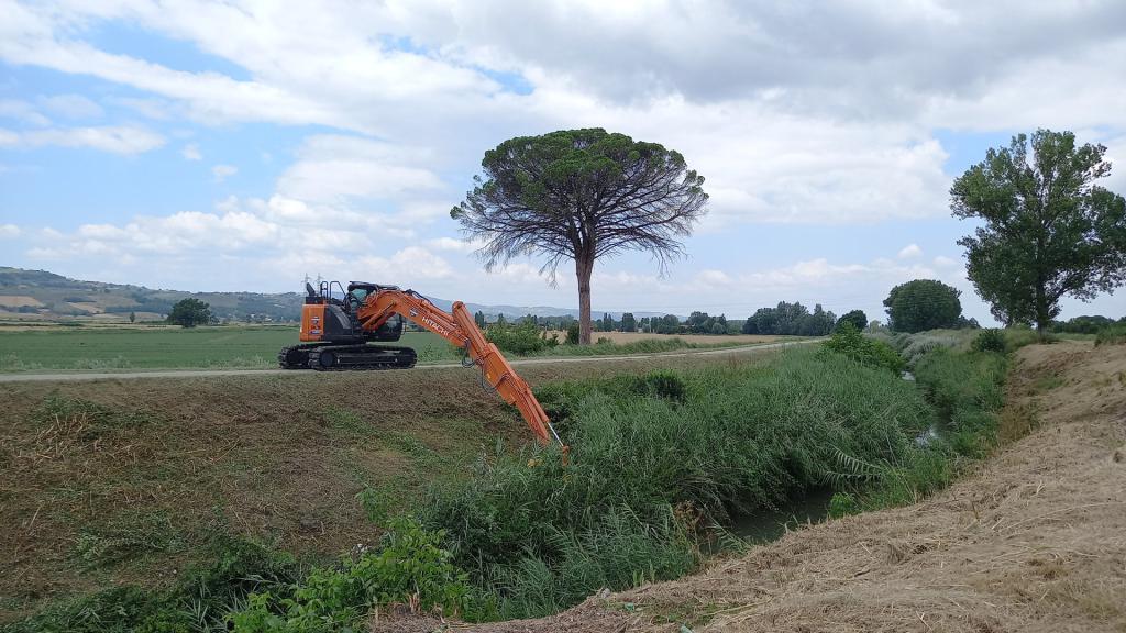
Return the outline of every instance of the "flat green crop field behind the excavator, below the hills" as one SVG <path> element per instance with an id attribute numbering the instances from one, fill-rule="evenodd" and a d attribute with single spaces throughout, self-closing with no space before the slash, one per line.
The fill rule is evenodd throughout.
<path id="1" fill-rule="evenodd" d="M 278 350 L 296 345 L 297 328 L 42 328 L 0 331 L 0 372 L 277 367 Z M 406 332 L 419 363 L 458 358 L 430 332 Z"/>

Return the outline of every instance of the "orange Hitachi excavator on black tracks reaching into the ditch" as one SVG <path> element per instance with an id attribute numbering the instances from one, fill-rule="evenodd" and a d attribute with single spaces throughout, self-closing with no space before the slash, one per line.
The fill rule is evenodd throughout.
<path id="1" fill-rule="evenodd" d="M 485 339 L 464 303 L 455 301 L 446 312 L 414 291 L 364 282 L 350 282 L 347 291 L 339 282 L 321 282 L 319 288 L 306 283 L 305 291 L 302 345 L 282 349 L 283 368 L 409 369 L 417 359 L 413 349 L 370 345 L 399 340 L 405 319 L 462 349 L 462 366 L 480 367 L 483 380 L 519 409 L 540 444 L 554 440 L 566 451 L 531 387 Z"/>

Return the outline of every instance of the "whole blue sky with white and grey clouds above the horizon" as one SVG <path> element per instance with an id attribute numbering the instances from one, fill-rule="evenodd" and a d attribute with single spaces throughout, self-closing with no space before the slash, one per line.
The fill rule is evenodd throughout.
<path id="1" fill-rule="evenodd" d="M 0 264 L 570 306 L 571 269 L 488 274 L 447 212 L 501 141 L 601 126 L 685 153 L 712 204 L 669 276 L 599 262 L 596 310 L 883 318 L 893 285 L 930 277 L 988 321 L 950 180 L 1036 127 L 1126 157 L 1115 2 L 694 7 L 0 0 Z M 1064 315 L 1119 316 L 1123 296 Z"/>

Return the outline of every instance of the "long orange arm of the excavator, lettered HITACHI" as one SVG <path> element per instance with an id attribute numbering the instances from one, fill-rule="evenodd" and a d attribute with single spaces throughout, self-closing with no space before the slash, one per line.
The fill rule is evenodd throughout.
<path id="1" fill-rule="evenodd" d="M 379 329 L 395 314 L 464 349 L 470 362 L 463 364 L 481 367 L 484 378 L 504 402 L 519 409 L 536 439 L 544 445 L 554 439 L 566 452 L 566 445 L 555 433 L 531 387 L 517 375 L 497 346 L 485 339 L 464 303 L 455 301 L 452 311 L 446 312 L 413 291 L 385 288 L 367 295 L 364 305 L 356 312 L 360 326 L 367 331 Z"/>

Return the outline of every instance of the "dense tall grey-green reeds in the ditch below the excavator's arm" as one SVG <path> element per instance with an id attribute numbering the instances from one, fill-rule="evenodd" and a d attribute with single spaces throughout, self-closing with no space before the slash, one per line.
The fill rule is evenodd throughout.
<path id="1" fill-rule="evenodd" d="M 498 454 L 422 505 L 423 523 L 446 531 L 458 564 L 493 587 L 504 616 L 674 578 L 698 559 L 696 526 L 823 484 L 842 454 L 900 463 L 933 420 L 912 384 L 814 350 L 768 367 L 566 383 L 538 396 L 564 420 L 570 465 L 549 452 Z"/>

